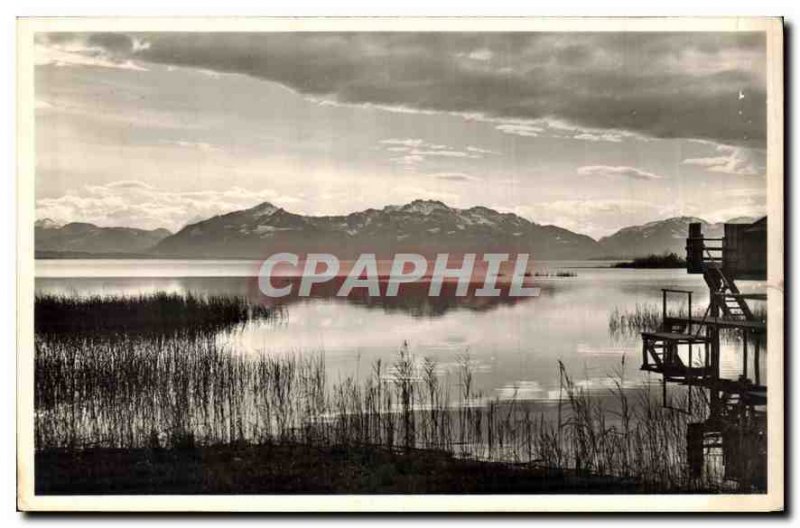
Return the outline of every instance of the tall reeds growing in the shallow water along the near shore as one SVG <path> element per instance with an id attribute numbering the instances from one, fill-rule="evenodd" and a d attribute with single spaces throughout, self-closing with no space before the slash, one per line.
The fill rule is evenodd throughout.
<path id="1" fill-rule="evenodd" d="M 55 312 L 66 318 L 58 331 L 37 326 L 35 442 L 37 461 L 50 464 L 41 473 L 37 466 L 37 474 L 55 479 L 42 482 L 44 488 L 63 478 L 53 469 L 63 464 L 71 463 L 68 474 L 80 480 L 93 474 L 92 467 L 113 466 L 119 456 L 134 464 L 138 475 L 144 470 L 137 464 L 152 462 L 147 462 L 147 453 L 167 452 L 167 460 L 180 461 L 170 471 L 180 474 L 202 467 L 191 462 L 197 457 L 242 450 L 236 456 L 248 459 L 256 456 L 253 449 L 287 446 L 301 446 L 312 459 L 315 450 L 410 459 L 423 450 L 463 464 L 496 464 L 480 471 L 497 475 L 505 471 L 501 466 L 538 475 L 544 470 L 566 472 L 575 478 L 634 481 L 637 490 L 646 492 L 714 491 L 720 486 L 686 472 L 687 424 L 698 420 L 702 410 L 695 407 L 692 416 L 672 412 L 655 403 L 646 389 L 623 390 L 624 363 L 613 377 L 613 405 L 584 390 L 559 363 L 560 397 L 557 415 L 550 419 L 524 402 L 487 399 L 476 391 L 468 355 L 459 358 L 452 379 L 439 376 L 433 360 L 416 357 L 403 345 L 391 363 L 374 363 L 366 379 L 334 382 L 327 376 L 324 355 L 276 357 L 228 349 L 214 329 L 222 321 L 230 324 L 260 313 L 237 302 L 177 302 L 178 310 L 195 313 L 198 306 L 225 306 L 224 313 L 232 315 L 195 313 L 202 322 L 195 332 L 152 333 L 126 331 L 118 319 L 91 313 L 109 307 L 127 317 L 143 313 L 126 302 L 40 299 L 51 310 L 54 305 L 56 310 L 72 306 L 73 313 L 86 317 L 66 322 L 69 311 Z M 141 302 L 163 306 L 174 301 Z M 37 307 L 37 324 L 42 313 Z M 182 328 L 190 321 L 187 314 L 167 317 L 175 323 L 156 324 Z M 105 322 L 117 331 L 63 331 L 70 325 L 95 329 Z M 128 455 L 114 455 L 118 450 Z M 168 462 L 152 464 L 158 468 Z M 344 464 L 335 471 L 368 471 L 373 478 L 383 470 L 381 465 L 368 470 Z M 108 476 L 98 475 L 99 481 Z M 449 489 L 459 486 L 451 483 Z"/>

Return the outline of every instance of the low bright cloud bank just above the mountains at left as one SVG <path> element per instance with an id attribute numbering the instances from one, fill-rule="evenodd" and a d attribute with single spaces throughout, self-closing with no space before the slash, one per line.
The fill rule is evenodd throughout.
<path id="1" fill-rule="evenodd" d="M 295 199 L 271 189 L 249 191 L 232 187 L 225 191 L 174 192 L 137 180 L 87 185 L 57 198 L 36 201 L 37 218 L 58 223 L 89 222 L 100 226 L 166 227 L 177 231 L 187 223 L 245 209 L 261 202 L 289 205 Z"/>

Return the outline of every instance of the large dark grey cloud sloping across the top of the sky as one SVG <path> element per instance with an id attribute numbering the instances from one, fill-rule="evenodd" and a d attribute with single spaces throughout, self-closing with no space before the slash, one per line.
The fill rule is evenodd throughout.
<path id="1" fill-rule="evenodd" d="M 507 120 L 498 129 L 519 135 L 537 127 L 514 121 L 557 120 L 726 145 L 766 140 L 763 33 L 56 33 L 39 41 L 77 42 L 76 53 L 114 64 L 244 74 L 339 104 Z"/>

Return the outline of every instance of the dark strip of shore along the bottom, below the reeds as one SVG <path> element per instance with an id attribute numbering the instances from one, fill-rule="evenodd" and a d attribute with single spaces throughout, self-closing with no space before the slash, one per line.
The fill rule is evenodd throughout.
<path id="1" fill-rule="evenodd" d="M 41 495 L 654 492 L 632 479 L 376 446 L 48 449 L 35 464 Z"/>

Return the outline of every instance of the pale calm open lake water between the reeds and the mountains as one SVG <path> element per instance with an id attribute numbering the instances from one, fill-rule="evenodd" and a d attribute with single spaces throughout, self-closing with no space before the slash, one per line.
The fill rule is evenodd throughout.
<path id="1" fill-rule="evenodd" d="M 616 309 L 637 305 L 660 310 L 661 288 L 691 290 L 694 310 L 708 304 L 700 275 L 685 270 L 613 269 L 608 262 L 542 261 L 537 272 L 571 271 L 575 277 L 534 277 L 541 295 L 518 299 L 314 297 L 293 299 L 278 322 L 249 323 L 220 336 L 237 351 L 252 354 L 324 353 L 333 379 L 363 377 L 374 361 L 391 365 L 408 343 L 412 354 L 434 359 L 443 376 L 455 376 L 459 358 L 469 354 L 475 387 L 488 398 L 516 398 L 547 405 L 558 396 L 558 361 L 588 390 L 608 392 L 611 375 L 626 388 L 656 383 L 639 371 L 638 334 L 609 332 Z M 158 291 L 253 296 L 256 261 L 40 260 L 36 292 L 65 295 L 137 295 Z M 742 282 L 745 292 L 764 284 Z M 675 297 L 675 304 L 685 298 Z M 766 379 L 762 354 L 761 376 Z M 722 374 L 741 369 L 741 344 L 723 344 Z M 625 358 L 623 369 L 623 358 Z M 750 372 L 752 373 L 752 365 Z M 752 374 L 750 374 L 752 376 Z"/>

